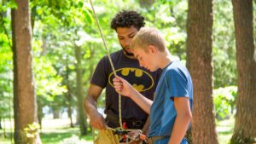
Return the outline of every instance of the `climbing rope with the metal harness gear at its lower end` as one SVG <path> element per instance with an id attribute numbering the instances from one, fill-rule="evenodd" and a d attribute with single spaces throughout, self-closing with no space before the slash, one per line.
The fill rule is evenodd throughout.
<path id="1" fill-rule="evenodd" d="M 108 60 L 110 62 L 110 65 L 111 65 L 111 68 L 112 68 L 112 71 L 113 71 L 113 75 L 114 77 L 117 76 L 116 72 L 115 72 L 115 69 L 114 69 L 114 66 L 113 66 L 113 61 L 110 57 L 110 54 L 109 54 L 109 50 L 108 50 L 108 47 L 107 47 L 107 44 L 105 42 L 105 39 L 103 37 L 103 34 L 102 34 L 102 29 L 101 29 L 101 26 L 98 22 L 98 19 L 97 19 L 97 16 L 96 16 L 96 12 L 95 12 L 95 9 L 93 7 L 93 4 L 90 0 L 90 6 L 91 6 L 91 9 L 93 11 L 93 14 L 94 14 L 94 17 L 95 17 L 95 20 L 96 20 L 96 25 L 99 29 L 99 32 L 101 33 L 101 37 L 102 37 L 102 42 L 104 44 L 104 48 L 106 49 L 107 51 L 107 55 L 108 55 Z M 142 130 L 128 130 L 126 129 L 126 126 L 125 126 L 125 123 L 122 124 L 122 112 L 121 112 L 121 95 L 119 94 L 119 127 L 118 128 L 110 128 L 110 127 L 107 127 L 108 130 L 113 130 L 113 134 L 115 135 L 120 135 L 120 140 L 119 142 L 129 142 L 129 141 L 138 141 L 140 140 L 140 137 L 143 138 L 145 135 L 142 135 Z M 92 130 L 93 131 L 93 130 Z M 131 133 L 136 133 L 138 132 L 137 135 L 130 135 Z M 93 134 L 94 136 L 94 134 Z"/>

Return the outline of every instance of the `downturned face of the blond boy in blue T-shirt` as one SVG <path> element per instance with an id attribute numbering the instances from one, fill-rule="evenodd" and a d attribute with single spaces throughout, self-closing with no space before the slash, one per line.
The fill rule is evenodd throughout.
<path id="1" fill-rule="evenodd" d="M 139 60 L 140 66 L 148 69 L 150 72 L 154 72 L 158 69 L 155 60 L 154 52 L 150 49 L 146 52 L 144 49 L 136 48 L 133 50 L 133 54 Z"/>

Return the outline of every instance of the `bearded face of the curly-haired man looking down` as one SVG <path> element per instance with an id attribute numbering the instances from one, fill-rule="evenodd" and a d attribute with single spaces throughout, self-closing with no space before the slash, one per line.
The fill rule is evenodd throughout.
<path id="1" fill-rule="evenodd" d="M 130 48 L 131 39 L 137 34 L 137 28 L 131 27 L 118 27 L 116 29 L 119 43 L 125 50 L 126 55 L 133 56 Z"/>

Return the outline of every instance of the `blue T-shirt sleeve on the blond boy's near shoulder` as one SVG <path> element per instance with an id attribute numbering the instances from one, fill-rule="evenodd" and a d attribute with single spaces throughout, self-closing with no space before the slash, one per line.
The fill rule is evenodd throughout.
<path id="1" fill-rule="evenodd" d="M 188 79 L 183 71 L 172 69 L 166 74 L 170 98 L 189 97 Z"/>

